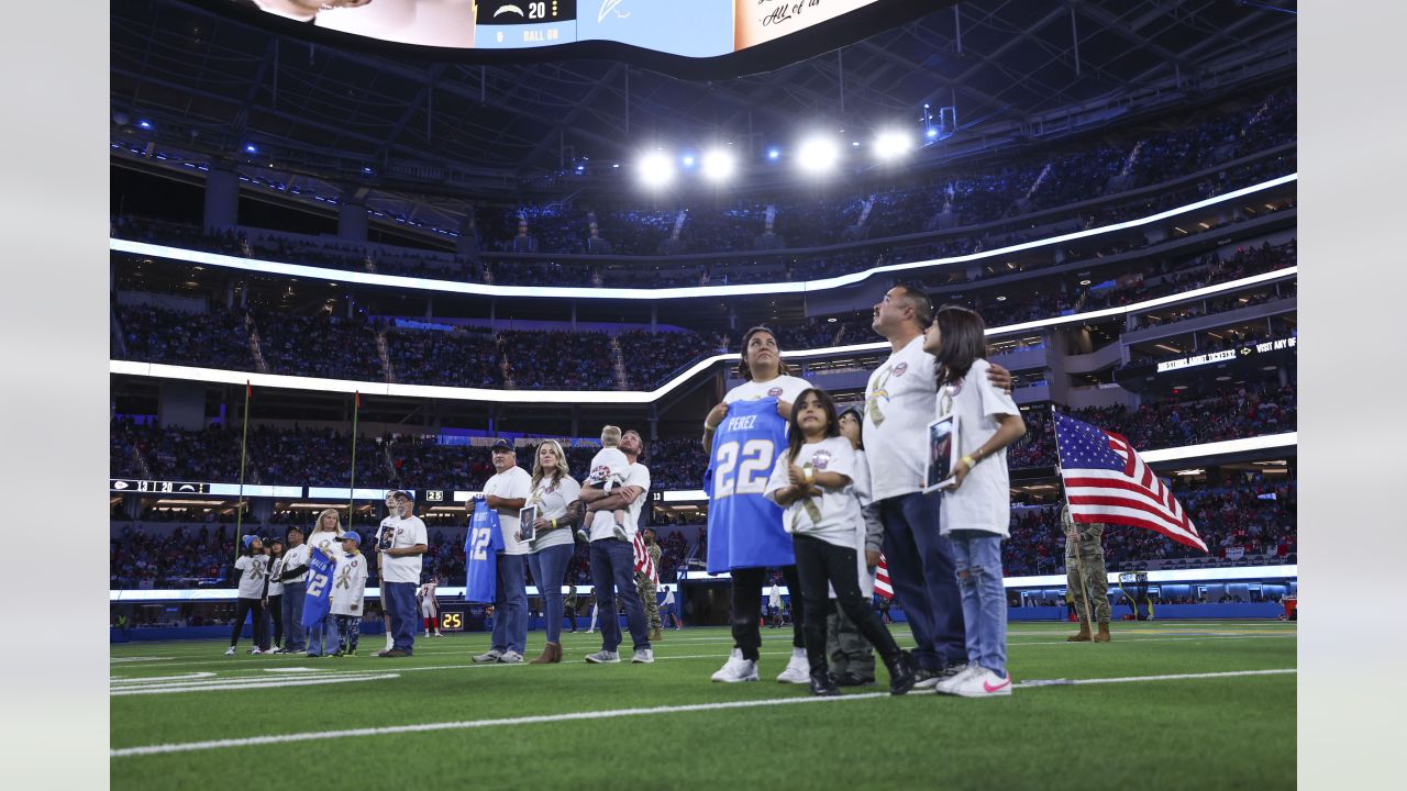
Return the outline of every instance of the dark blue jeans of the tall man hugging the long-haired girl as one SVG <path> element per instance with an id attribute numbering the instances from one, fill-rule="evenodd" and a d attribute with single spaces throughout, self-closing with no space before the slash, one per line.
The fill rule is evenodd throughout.
<path id="1" fill-rule="evenodd" d="M 962 662 L 962 597 L 953 548 L 938 535 L 938 493 L 886 497 L 878 505 L 889 581 L 917 645 L 915 662 L 926 670 Z"/>

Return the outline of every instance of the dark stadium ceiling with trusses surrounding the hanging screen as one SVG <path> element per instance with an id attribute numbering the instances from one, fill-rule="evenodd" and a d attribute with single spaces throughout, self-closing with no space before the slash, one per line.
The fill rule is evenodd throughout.
<path id="1" fill-rule="evenodd" d="M 1293 75 L 1294 3 L 976 0 L 774 72 L 692 82 L 622 62 L 474 65 L 353 51 L 194 0 L 111 4 L 114 141 L 355 182 L 369 190 L 518 194 L 580 158 L 657 141 L 760 153 L 809 128 L 868 137 L 923 106 L 957 137 L 1186 101 Z M 280 28 L 281 31 L 283 28 Z M 560 187 L 560 183 L 559 183 Z"/>

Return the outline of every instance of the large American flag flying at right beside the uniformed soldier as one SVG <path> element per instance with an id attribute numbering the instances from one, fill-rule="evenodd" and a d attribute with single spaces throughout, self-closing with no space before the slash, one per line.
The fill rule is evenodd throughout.
<path id="1" fill-rule="evenodd" d="M 1072 521 L 1145 528 L 1207 550 L 1182 504 L 1127 439 L 1057 412 L 1055 448 Z"/>

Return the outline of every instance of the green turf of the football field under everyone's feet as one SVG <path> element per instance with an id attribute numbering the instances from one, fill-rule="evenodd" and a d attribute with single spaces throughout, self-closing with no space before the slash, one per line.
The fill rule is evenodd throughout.
<path id="1" fill-rule="evenodd" d="M 1013 624 L 1010 670 L 1031 680 L 1293 669 L 1294 625 L 1116 624 L 1109 645 L 1067 643 L 1064 624 Z M 908 633 L 896 625 L 900 643 Z M 471 666 L 487 635 L 421 639 L 411 659 L 222 656 L 218 642 L 113 647 L 114 690 L 134 678 L 272 684 L 317 671 L 395 678 L 111 698 L 114 749 L 331 729 L 808 700 L 772 681 L 789 631 L 764 629 L 763 681 L 712 684 L 725 629 L 667 632 L 656 664 L 590 666 L 598 635 L 564 635 L 557 666 Z M 529 656 L 542 647 L 529 633 Z M 380 647 L 369 635 L 362 650 Z M 629 654 L 625 654 L 626 659 Z M 160 657 L 160 659 L 149 659 Z M 138 662 L 124 662 L 138 659 Z M 419 669 L 419 670 L 416 670 Z M 881 684 L 886 676 L 879 669 Z M 138 683 L 141 684 L 141 683 Z M 884 687 L 857 692 L 882 691 Z M 854 701 L 636 714 L 114 756 L 114 788 L 1290 788 L 1294 674 L 1017 688 L 1005 700 L 913 692 Z M 855 694 L 855 692 L 851 692 Z M 288 712 L 301 712 L 290 715 Z M 318 760 L 312 760 L 314 756 Z M 273 771 L 286 766 L 317 771 Z M 263 768 L 259 768 L 263 767 Z M 257 776 L 257 780 L 255 777 Z"/>

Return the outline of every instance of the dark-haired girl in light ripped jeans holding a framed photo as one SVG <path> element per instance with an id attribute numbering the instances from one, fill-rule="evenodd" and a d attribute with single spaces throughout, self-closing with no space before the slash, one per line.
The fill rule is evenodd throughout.
<path id="1" fill-rule="evenodd" d="M 1006 446 L 1026 434 L 1026 422 L 1016 401 L 988 380 L 981 315 L 955 305 L 938 308 L 923 350 L 936 357 L 937 415 L 957 415 L 962 456 L 953 469 L 953 488 L 943 495 L 940 524 L 953 545 L 968 667 L 936 688 L 968 698 L 1010 695 L 1002 586 L 1002 539 L 1010 536 L 1012 519 Z"/>

